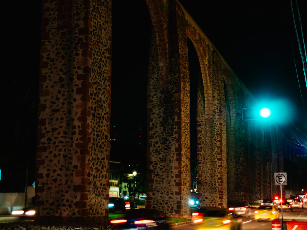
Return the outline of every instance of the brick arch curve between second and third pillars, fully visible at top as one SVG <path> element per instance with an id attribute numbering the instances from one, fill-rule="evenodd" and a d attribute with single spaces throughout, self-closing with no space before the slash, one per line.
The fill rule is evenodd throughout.
<path id="1" fill-rule="evenodd" d="M 206 117 L 211 117 L 213 113 L 212 81 L 208 69 L 208 58 L 205 44 L 203 43 L 203 39 L 199 33 L 194 30 L 188 30 L 187 38 L 191 39 L 198 56 L 204 85 L 205 115 Z"/>

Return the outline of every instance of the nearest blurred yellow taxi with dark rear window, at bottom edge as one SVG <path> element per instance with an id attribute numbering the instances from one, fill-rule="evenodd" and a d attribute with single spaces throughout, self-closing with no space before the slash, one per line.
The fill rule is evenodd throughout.
<path id="1" fill-rule="evenodd" d="M 199 207 L 197 208 L 197 212 L 192 213 L 192 221 L 195 224 L 196 230 L 241 229 L 241 219 L 234 218 L 228 209 Z"/>

